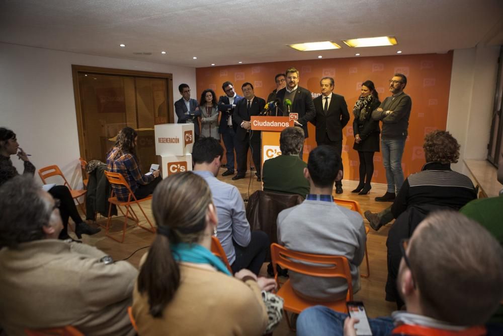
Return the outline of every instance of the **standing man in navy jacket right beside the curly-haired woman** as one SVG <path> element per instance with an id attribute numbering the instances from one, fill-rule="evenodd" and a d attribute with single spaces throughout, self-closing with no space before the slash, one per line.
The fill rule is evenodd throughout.
<path id="1" fill-rule="evenodd" d="M 236 128 L 238 127 L 232 118 L 232 113 L 234 112 L 234 107 L 236 107 L 243 97 L 236 94 L 231 82 L 224 82 L 222 89 L 225 92 L 225 96 L 220 96 L 218 99 L 218 110 L 222 112 L 218 132 L 222 135 L 226 152 L 225 157 L 227 159 L 227 164 L 225 165 L 227 170 L 222 176 L 228 176 L 234 174 L 234 148 L 236 147 Z"/>

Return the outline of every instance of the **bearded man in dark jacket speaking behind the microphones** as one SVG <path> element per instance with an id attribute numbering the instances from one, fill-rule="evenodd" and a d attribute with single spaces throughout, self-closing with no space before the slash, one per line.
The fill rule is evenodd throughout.
<path id="1" fill-rule="evenodd" d="M 276 98 L 280 100 L 279 110 L 284 116 L 288 116 L 288 107 L 284 105 L 284 101 L 289 99 L 292 102 L 290 112 L 298 113 L 299 119 L 297 120 L 302 124 L 304 130 L 304 137 L 307 138 L 307 122 L 316 116 L 314 109 L 313 98 L 311 92 L 304 89 L 299 84 L 299 71 L 295 68 L 290 68 L 286 71 L 286 88 L 278 90 Z M 278 112 L 279 113 L 279 112 Z M 302 159 L 304 147 L 302 147 L 299 156 Z"/>

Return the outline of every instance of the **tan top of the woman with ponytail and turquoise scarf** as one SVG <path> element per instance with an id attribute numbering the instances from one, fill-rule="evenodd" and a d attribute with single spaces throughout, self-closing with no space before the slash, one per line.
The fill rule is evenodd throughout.
<path id="1" fill-rule="evenodd" d="M 162 318 L 149 314 L 145 294 L 133 293 L 133 315 L 140 335 L 260 336 L 267 310 L 257 283 L 245 283 L 205 264 L 180 263 L 180 287 Z"/>

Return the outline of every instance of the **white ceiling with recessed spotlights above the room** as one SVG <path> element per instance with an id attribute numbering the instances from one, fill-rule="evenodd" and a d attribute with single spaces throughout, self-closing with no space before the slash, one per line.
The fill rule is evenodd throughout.
<path id="1" fill-rule="evenodd" d="M 398 45 L 355 49 L 341 41 L 385 35 Z M 323 40 L 342 49 L 286 46 Z M 0 0 L 0 41 L 197 68 L 356 52 L 444 53 L 503 44 L 503 1 Z"/>

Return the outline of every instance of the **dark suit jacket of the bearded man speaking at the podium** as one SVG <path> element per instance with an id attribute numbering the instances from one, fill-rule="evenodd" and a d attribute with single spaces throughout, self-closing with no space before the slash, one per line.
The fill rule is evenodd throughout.
<path id="1" fill-rule="evenodd" d="M 276 93 L 276 98 L 281 101 L 278 108 L 278 114 L 281 111 L 283 116 L 288 116 L 288 109 L 283 105 L 283 99 L 285 97 L 286 88 L 281 89 Z M 314 109 L 313 98 L 311 92 L 307 89 L 297 87 L 297 92 L 295 93 L 295 98 L 290 106 L 290 112 L 298 113 L 299 120 L 302 124 L 302 129 L 304 130 L 304 137 L 307 138 L 309 135 L 307 133 L 307 123 L 311 121 L 316 116 L 316 110 Z"/>

